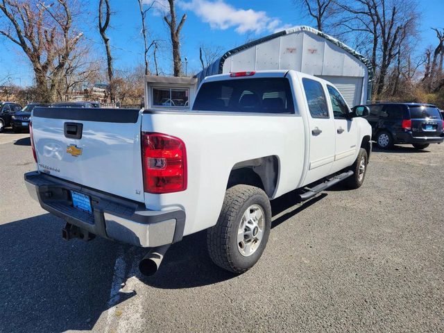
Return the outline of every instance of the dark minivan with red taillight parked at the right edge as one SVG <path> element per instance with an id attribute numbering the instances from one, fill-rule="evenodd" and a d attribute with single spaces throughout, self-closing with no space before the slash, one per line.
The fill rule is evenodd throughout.
<path id="1" fill-rule="evenodd" d="M 424 149 L 444 140 L 443 118 L 438 108 L 421 103 L 378 103 L 368 105 L 366 117 L 379 148 L 412 144 Z"/>

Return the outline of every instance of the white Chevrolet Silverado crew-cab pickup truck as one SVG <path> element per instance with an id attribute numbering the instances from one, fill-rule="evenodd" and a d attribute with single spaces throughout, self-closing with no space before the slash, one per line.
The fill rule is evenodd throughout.
<path id="1" fill-rule="evenodd" d="M 297 71 L 210 76 L 189 112 L 35 108 L 37 171 L 24 178 L 42 207 L 65 219 L 65 239 L 95 235 L 151 248 L 207 229 L 214 263 L 243 273 L 261 257 L 270 200 L 300 200 L 344 180 L 362 185 L 371 152 L 363 105 Z"/>

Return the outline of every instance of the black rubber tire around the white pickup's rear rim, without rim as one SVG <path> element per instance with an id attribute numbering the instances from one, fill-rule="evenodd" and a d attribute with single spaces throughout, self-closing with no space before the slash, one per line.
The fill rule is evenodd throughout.
<path id="1" fill-rule="evenodd" d="M 238 246 L 238 230 L 244 213 L 253 205 L 262 209 L 262 239 L 251 255 L 244 256 L 239 250 L 240 245 Z M 216 225 L 207 230 L 208 253 L 217 266 L 233 273 L 244 273 L 262 256 L 270 228 L 271 205 L 265 192 L 258 187 L 235 185 L 225 192 L 222 211 Z M 242 241 L 239 244 L 242 244 Z"/>

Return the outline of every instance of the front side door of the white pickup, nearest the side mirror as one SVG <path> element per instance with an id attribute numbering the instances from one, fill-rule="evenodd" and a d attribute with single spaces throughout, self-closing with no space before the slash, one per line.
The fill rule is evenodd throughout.
<path id="1" fill-rule="evenodd" d="M 358 126 L 357 121 L 348 117 L 350 109 L 338 90 L 332 85 L 327 85 L 327 91 L 334 117 L 336 145 L 332 172 L 336 172 L 355 162 Z"/>

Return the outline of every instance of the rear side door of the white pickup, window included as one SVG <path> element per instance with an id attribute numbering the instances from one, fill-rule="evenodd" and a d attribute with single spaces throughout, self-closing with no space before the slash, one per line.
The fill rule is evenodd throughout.
<path id="1" fill-rule="evenodd" d="M 302 78 L 309 121 L 309 170 L 304 184 L 330 175 L 334 161 L 334 122 L 328 111 L 327 95 L 321 82 Z"/>

